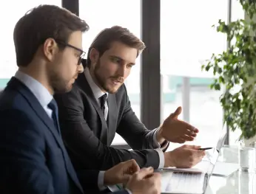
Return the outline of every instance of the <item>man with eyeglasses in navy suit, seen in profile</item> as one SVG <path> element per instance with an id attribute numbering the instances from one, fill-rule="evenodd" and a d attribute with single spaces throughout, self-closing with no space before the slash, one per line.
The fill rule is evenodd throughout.
<path id="1" fill-rule="evenodd" d="M 152 168 L 140 170 L 134 160 L 78 175 L 70 162 L 53 94 L 70 91 L 84 71 L 82 32 L 88 29 L 53 5 L 34 8 L 16 24 L 18 71 L 0 94 L 0 193 L 97 193 L 118 183 L 126 189 L 115 194 L 160 193 L 160 176 Z"/>

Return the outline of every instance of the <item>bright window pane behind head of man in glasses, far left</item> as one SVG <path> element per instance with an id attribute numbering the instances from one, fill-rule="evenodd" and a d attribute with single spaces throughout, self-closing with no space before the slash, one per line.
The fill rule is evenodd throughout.
<path id="1" fill-rule="evenodd" d="M 4 1 L 4 9 L 0 13 L 0 23 L 4 24 L 4 30 L 1 30 L 1 37 L 4 38 L 1 40 L 2 46 L 0 47 L 0 53 L 2 54 L 0 63 L 0 90 L 4 89 L 10 77 L 18 69 L 13 44 L 14 27 L 22 15 L 40 4 L 55 4 L 61 7 L 61 0 L 27 0 L 26 3 L 24 1 Z"/>

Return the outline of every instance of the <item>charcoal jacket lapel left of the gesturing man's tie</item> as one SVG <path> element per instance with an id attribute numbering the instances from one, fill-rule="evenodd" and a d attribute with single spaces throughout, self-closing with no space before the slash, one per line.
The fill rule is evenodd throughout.
<path id="1" fill-rule="evenodd" d="M 95 110 L 98 113 L 98 117 L 101 119 L 101 142 L 104 143 L 104 145 L 107 145 L 108 142 L 108 128 L 107 128 L 107 122 L 104 117 L 104 114 L 101 111 L 100 105 L 98 105 L 97 100 L 94 97 L 94 94 L 92 92 L 92 89 L 90 88 L 89 83 L 87 82 L 87 79 L 85 75 L 82 73 L 78 75 L 78 79 L 76 80 L 76 83 L 78 83 L 78 86 L 84 91 L 88 99 L 90 100 L 90 103 L 94 106 Z"/>

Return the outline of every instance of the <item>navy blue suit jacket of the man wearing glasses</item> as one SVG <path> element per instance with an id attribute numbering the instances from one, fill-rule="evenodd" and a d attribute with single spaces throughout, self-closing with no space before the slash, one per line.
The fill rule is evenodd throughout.
<path id="1" fill-rule="evenodd" d="M 53 120 L 14 77 L 0 94 L 0 126 L 0 193 L 81 194 L 85 183 L 96 190 L 98 172 L 80 172 L 79 183 Z"/>

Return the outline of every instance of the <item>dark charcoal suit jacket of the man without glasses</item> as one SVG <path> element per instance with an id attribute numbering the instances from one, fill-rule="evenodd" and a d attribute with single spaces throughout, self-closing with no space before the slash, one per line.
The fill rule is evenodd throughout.
<path id="1" fill-rule="evenodd" d="M 55 100 L 61 133 L 76 170 L 106 170 L 129 159 L 135 159 L 140 167 L 158 168 L 159 156 L 152 149 L 150 131 L 132 111 L 124 85 L 107 98 L 107 122 L 84 74 L 78 76 L 72 91 L 56 95 Z M 110 147 L 115 132 L 133 150 Z"/>

